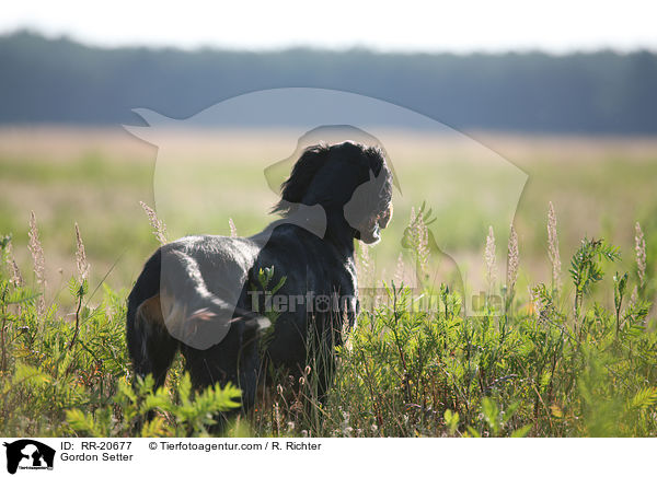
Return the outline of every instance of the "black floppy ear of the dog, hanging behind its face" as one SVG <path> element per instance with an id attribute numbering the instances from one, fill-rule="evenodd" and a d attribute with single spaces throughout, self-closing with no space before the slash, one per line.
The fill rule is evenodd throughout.
<path id="1" fill-rule="evenodd" d="M 318 171 L 326 163 L 328 147 L 326 144 L 307 148 L 292 167 L 290 177 L 283 183 L 280 201 L 274 212 L 284 216 L 289 213 L 296 203 L 300 203 Z"/>

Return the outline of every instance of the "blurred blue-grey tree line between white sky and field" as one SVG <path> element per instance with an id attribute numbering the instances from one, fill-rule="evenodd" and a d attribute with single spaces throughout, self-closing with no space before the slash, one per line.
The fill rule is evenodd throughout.
<path id="1" fill-rule="evenodd" d="M 139 124 L 135 107 L 185 118 L 289 86 L 365 94 L 459 129 L 657 132 L 657 56 L 648 51 L 185 51 L 88 47 L 30 32 L 0 37 L 4 124 Z M 293 121 L 281 112 L 283 124 Z"/>

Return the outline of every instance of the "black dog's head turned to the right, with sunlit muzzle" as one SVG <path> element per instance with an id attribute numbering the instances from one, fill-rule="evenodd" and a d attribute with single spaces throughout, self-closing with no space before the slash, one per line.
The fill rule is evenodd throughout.
<path id="1" fill-rule="evenodd" d="M 321 205 L 330 226 L 346 226 L 367 244 L 380 240 L 392 218 L 392 173 L 383 151 L 351 141 L 307 148 L 283 184 L 275 211 Z"/>

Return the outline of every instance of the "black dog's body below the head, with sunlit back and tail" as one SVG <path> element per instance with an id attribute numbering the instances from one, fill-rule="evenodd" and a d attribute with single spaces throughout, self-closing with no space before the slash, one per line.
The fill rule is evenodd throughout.
<path id="1" fill-rule="evenodd" d="M 273 274 L 266 289 L 258 276 L 264 269 Z M 269 293 L 279 283 L 275 295 L 284 300 L 272 307 Z M 314 341 L 332 347 L 343 319 L 353 325 L 357 306 L 353 260 L 307 230 L 281 224 L 266 242 L 260 234 L 191 236 L 160 247 L 146 263 L 128 296 L 128 349 L 136 374 L 151 373 L 157 386 L 180 349 L 195 385 L 233 382 L 247 391 L 249 406 L 263 356 L 298 373 L 309 352 L 309 319 Z M 257 333 L 272 312 L 277 319 L 260 353 Z"/>

